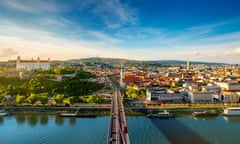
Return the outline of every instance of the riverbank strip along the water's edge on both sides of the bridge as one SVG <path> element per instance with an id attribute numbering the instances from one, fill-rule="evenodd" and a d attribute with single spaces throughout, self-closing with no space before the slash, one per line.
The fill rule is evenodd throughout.
<path id="1" fill-rule="evenodd" d="M 215 109 L 221 113 L 225 107 L 240 107 L 240 104 L 164 104 L 155 106 L 131 106 L 125 107 L 125 114 L 132 116 L 146 115 L 149 111 L 161 111 L 167 109 L 176 114 L 190 114 L 196 109 Z M 96 115 L 110 115 L 111 107 L 109 105 L 84 105 L 84 106 L 0 106 L 0 110 L 4 110 L 11 114 L 47 114 L 55 115 L 60 112 L 74 113 L 93 113 Z"/>

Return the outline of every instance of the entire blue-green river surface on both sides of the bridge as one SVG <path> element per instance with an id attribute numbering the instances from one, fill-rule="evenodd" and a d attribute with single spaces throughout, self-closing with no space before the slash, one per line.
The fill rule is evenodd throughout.
<path id="1" fill-rule="evenodd" d="M 106 144 L 107 116 L 53 115 L 0 117 L 0 144 Z M 239 144 L 240 117 L 173 119 L 127 117 L 131 144 Z"/>

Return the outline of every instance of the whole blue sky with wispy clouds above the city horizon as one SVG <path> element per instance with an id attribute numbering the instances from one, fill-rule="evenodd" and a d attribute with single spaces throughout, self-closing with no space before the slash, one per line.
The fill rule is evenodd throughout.
<path id="1" fill-rule="evenodd" d="M 239 0 L 0 0 L 0 61 L 240 64 Z"/>

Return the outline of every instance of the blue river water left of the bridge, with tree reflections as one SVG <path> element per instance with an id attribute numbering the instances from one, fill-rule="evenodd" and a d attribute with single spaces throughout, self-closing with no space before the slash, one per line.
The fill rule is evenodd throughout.
<path id="1" fill-rule="evenodd" d="M 105 144 L 107 140 L 108 117 L 11 115 L 0 117 L 0 122 L 0 144 Z"/>

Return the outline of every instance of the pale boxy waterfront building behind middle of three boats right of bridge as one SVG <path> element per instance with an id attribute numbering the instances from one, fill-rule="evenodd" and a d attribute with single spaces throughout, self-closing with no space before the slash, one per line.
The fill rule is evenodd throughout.
<path id="1" fill-rule="evenodd" d="M 212 103 L 213 93 L 212 92 L 189 92 L 191 103 Z"/>

